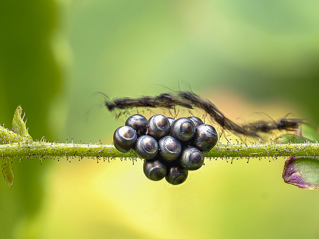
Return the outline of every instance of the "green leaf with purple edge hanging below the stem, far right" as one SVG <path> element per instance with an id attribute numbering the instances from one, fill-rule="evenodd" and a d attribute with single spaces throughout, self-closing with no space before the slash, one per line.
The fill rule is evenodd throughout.
<path id="1" fill-rule="evenodd" d="M 285 162 L 282 177 L 287 184 L 306 189 L 319 189 L 319 157 L 289 157 Z"/>

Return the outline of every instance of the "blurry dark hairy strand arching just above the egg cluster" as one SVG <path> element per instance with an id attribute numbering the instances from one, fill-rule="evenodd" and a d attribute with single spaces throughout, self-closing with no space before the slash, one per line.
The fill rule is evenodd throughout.
<path id="1" fill-rule="evenodd" d="M 160 94 L 159 96 L 143 96 L 141 98 L 118 98 L 105 102 L 105 106 L 109 111 L 114 109 L 126 110 L 135 107 L 152 107 L 152 108 L 167 108 L 174 109 L 175 106 L 181 106 L 187 109 L 200 109 L 207 115 L 213 118 L 223 129 L 236 132 L 242 135 L 258 136 L 257 132 L 269 133 L 275 129 L 295 131 L 301 124 L 305 124 L 306 120 L 301 119 L 287 119 L 289 114 L 284 116 L 283 119 L 277 123 L 268 114 L 266 114 L 272 121 L 258 121 L 249 123 L 244 126 L 239 126 L 232 120 L 228 119 L 217 107 L 208 99 L 202 99 L 194 92 L 189 91 L 176 91 L 177 95 L 168 93 Z M 119 114 L 120 115 L 120 114 Z M 258 125 L 258 127 L 256 127 Z"/>

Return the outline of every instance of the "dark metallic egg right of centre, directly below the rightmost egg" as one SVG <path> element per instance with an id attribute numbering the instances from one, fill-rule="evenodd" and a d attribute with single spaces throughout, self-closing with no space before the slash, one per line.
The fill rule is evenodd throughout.
<path id="1" fill-rule="evenodd" d="M 196 147 L 188 146 L 182 150 L 179 162 L 184 169 L 197 170 L 203 166 L 203 153 Z"/>

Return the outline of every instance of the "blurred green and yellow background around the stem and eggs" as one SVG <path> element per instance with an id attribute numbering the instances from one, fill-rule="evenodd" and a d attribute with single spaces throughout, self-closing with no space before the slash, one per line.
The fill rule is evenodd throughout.
<path id="1" fill-rule="evenodd" d="M 21 104 L 33 139 L 109 144 L 125 118 L 95 92 L 179 83 L 235 121 L 293 112 L 317 137 L 318 1 L 1 1 L 0 22 L 0 122 Z M 14 160 L 0 238 L 318 238 L 319 195 L 285 184 L 284 161 L 206 160 L 171 186 L 139 160 Z"/>

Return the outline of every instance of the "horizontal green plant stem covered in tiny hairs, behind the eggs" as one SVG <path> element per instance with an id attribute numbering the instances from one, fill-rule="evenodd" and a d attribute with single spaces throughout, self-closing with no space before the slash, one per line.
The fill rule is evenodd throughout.
<path id="1" fill-rule="evenodd" d="M 0 126 L 0 140 L 13 142 L 0 145 L 0 157 L 10 158 L 137 158 L 134 151 L 121 153 L 113 145 L 78 144 L 31 141 L 26 137 L 19 137 L 18 134 Z M 21 138 L 22 141 L 21 141 Z M 14 142 L 15 141 L 15 142 Z M 232 144 L 217 145 L 211 151 L 205 152 L 204 157 L 211 158 L 259 158 L 279 156 L 316 156 L 319 144 Z"/>

